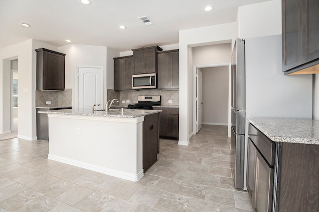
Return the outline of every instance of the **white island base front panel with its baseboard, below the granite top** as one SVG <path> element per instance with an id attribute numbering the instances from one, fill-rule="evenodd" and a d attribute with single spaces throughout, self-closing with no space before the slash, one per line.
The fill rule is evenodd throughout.
<path id="1" fill-rule="evenodd" d="M 143 171 L 143 121 L 48 113 L 48 159 L 138 181 Z"/>

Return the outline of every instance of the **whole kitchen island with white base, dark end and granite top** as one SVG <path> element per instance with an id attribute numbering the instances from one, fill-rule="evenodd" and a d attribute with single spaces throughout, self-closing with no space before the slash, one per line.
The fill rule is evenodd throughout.
<path id="1" fill-rule="evenodd" d="M 48 159 L 138 181 L 159 152 L 160 110 L 47 111 Z"/>

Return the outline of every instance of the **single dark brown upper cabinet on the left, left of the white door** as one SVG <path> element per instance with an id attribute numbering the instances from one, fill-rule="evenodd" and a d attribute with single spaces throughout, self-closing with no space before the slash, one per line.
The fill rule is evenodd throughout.
<path id="1" fill-rule="evenodd" d="M 36 49 L 36 89 L 64 90 L 65 54 Z"/>

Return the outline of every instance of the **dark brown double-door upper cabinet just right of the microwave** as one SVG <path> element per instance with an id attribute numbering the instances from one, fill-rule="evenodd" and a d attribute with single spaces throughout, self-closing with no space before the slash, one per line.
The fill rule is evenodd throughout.
<path id="1" fill-rule="evenodd" d="M 158 89 L 179 88 L 179 51 L 158 53 Z"/>

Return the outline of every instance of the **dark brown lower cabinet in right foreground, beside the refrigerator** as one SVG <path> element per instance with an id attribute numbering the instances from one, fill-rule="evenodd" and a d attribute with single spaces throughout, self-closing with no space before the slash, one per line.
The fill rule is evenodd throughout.
<path id="1" fill-rule="evenodd" d="M 246 186 L 254 212 L 319 212 L 319 145 L 273 142 L 249 124 Z"/>

